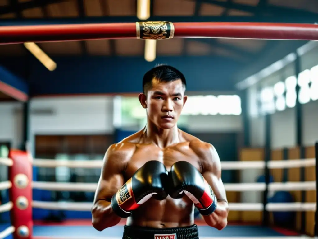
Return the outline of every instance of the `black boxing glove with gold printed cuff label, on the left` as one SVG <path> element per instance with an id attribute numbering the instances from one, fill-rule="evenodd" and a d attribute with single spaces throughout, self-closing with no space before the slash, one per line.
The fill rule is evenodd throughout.
<path id="1" fill-rule="evenodd" d="M 148 161 L 113 195 L 111 205 L 114 213 L 127 218 L 152 195 L 157 200 L 165 199 L 168 194 L 163 185 L 167 179 L 168 172 L 163 163 Z"/>

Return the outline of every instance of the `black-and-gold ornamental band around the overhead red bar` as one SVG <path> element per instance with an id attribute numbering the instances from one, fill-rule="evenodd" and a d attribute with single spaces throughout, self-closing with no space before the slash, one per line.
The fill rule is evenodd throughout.
<path id="1" fill-rule="evenodd" d="M 137 39 L 169 39 L 173 38 L 175 28 L 172 22 L 136 22 L 136 33 Z"/>

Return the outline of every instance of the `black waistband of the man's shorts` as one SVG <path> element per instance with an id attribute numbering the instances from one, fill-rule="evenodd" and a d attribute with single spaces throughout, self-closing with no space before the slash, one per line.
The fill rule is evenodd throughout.
<path id="1" fill-rule="evenodd" d="M 124 226 L 123 239 L 198 239 L 197 225 L 179 228 Z"/>

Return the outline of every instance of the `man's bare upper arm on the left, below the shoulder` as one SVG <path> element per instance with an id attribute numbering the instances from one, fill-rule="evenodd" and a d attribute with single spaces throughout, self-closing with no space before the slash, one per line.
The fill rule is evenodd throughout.
<path id="1" fill-rule="evenodd" d="M 118 154 L 112 152 L 106 152 L 105 154 L 94 202 L 101 199 L 110 201 L 112 196 L 124 184 L 124 177 L 122 175 L 123 167 L 121 165 L 123 160 L 117 155 Z"/>

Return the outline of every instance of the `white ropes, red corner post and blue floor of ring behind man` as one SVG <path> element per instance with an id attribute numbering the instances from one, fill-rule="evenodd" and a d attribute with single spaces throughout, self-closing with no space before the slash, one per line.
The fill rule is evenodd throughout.
<path id="1" fill-rule="evenodd" d="M 316 145 L 318 148 L 318 145 Z M 98 232 L 92 225 L 82 224 L 67 226 L 55 224 L 51 226 L 33 225 L 32 208 L 48 210 L 73 210 L 91 211 L 92 203 L 76 202 L 46 202 L 32 200 L 32 189 L 48 191 L 82 191 L 94 192 L 97 183 L 56 183 L 32 181 L 32 168 L 101 168 L 102 160 L 95 161 L 60 161 L 52 159 L 33 159 L 31 154 L 19 150 L 10 150 L 9 158 L 0 158 L 0 163 L 8 166 L 9 180 L 0 183 L 0 190 L 9 189 L 10 202 L 0 206 L 0 212 L 10 211 L 11 225 L 0 232 L 0 238 L 27 238 L 27 239 L 120 239 L 123 230 L 123 220 L 120 225 L 107 228 Z M 313 167 L 316 165 L 315 158 L 296 160 L 265 161 L 223 161 L 223 170 L 255 170 L 255 169 L 292 169 L 300 167 Z M 236 183 L 225 184 L 227 192 L 264 192 L 268 191 L 314 191 L 316 181 L 309 182 L 284 182 L 278 183 Z M 268 212 L 315 212 L 317 203 L 267 203 L 265 209 Z M 263 211 L 263 203 L 229 203 L 231 211 Z M 312 225 L 314 227 L 314 225 Z M 268 231 L 264 227 L 241 227 L 228 225 L 224 230 L 218 231 L 209 226 L 198 225 L 200 238 L 307 238 L 306 236 L 284 236 L 275 231 Z M 253 235 L 257 230 L 257 235 Z M 261 235 L 261 236 L 260 236 Z M 273 236 L 276 235 L 276 236 Z M 310 237 L 308 237 L 310 238 Z"/>

